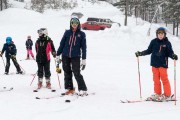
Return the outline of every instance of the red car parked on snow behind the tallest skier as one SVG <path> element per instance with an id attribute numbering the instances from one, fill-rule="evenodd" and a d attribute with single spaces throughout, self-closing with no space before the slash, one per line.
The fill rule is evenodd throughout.
<path id="1" fill-rule="evenodd" d="M 88 21 L 81 24 L 81 28 L 83 30 L 104 30 L 106 28 L 105 25 L 97 24 L 95 21 Z"/>

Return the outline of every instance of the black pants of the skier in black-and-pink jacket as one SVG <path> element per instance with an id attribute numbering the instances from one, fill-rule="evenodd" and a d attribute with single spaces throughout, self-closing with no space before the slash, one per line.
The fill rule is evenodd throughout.
<path id="1" fill-rule="evenodd" d="M 50 72 L 50 61 L 45 63 L 38 63 L 38 77 L 43 78 L 43 75 L 45 74 L 46 79 L 50 79 L 51 72 Z"/>

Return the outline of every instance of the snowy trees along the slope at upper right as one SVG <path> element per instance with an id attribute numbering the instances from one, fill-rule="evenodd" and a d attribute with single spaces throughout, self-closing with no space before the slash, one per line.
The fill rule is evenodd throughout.
<path id="1" fill-rule="evenodd" d="M 150 23 L 173 25 L 173 35 L 178 36 L 180 0 L 100 0 L 106 1 L 124 12 L 126 26 L 128 16 L 135 16 Z M 175 30 L 176 29 L 176 30 Z M 176 33 L 175 33 L 176 31 Z"/>

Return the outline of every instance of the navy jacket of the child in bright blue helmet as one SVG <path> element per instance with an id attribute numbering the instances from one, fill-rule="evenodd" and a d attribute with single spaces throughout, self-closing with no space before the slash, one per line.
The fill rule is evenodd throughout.
<path id="1" fill-rule="evenodd" d="M 10 58 L 11 55 L 16 55 L 17 50 L 15 44 L 12 42 L 11 44 L 5 43 L 2 49 L 2 54 L 5 52 L 5 56 Z"/>

